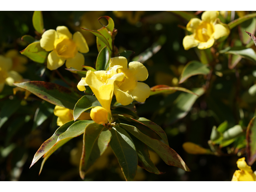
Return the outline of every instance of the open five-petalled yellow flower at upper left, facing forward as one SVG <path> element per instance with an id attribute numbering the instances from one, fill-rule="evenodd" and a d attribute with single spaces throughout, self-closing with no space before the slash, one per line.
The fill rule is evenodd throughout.
<path id="1" fill-rule="evenodd" d="M 47 68 L 55 70 L 66 61 L 66 67 L 82 70 L 84 56 L 81 53 L 89 51 L 86 40 L 80 32 L 72 34 L 65 26 L 58 26 L 56 30 L 50 29 L 42 34 L 40 46 L 51 51 L 47 58 Z M 79 52 L 81 53 L 79 53 Z"/>

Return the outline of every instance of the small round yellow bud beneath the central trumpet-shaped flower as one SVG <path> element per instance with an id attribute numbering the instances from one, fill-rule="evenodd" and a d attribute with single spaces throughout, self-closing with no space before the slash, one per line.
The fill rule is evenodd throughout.
<path id="1" fill-rule="evenodd" d="M 108 112 L 106 109 L 100 106 L 92 108 L 90 116 L 97 124 L 103 124 L 108 122 Z"/>

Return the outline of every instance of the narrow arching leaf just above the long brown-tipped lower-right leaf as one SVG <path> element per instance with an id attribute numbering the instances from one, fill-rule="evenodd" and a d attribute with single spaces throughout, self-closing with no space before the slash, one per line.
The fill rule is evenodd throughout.
<path id="1" fill-rule="evenodd" d="M 125 120 L 128 120 L 128 121 L 132 121 L 132 122 L 135 122 L 137 124 L 142 124 L 144 126 L 146 126 L 147 128 L 150 128 L 151 130 L 153 130 L 154 132 L 156 132 L 161 138 L 162 140 L 164 141 L 164 143 L 166 145 L 169 146 L 168 144 L 168 139 L 167 139 L 167 136 L 166 136 L 166 133 L 164 132 L 164 130 L 159 126 L 157 125 L 156 123 L 144 118 L 144 117 L 140 117 L 138 120 L 135 120 L 133 118 L 129 118 L 129 117 L 125 117 L 125 116 L 122 116 L 122 115 L 118 115 L 118 117 L 120 118 L 123 118 Z"/>

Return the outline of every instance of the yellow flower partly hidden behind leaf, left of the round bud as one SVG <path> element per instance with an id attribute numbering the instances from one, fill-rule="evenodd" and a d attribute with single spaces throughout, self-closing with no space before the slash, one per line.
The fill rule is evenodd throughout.
<path id="1" fill-rule="evenodd" d="M 56 105 L 53 113 L 55 116 L 58 117 L 58 119 L 57 119 L 58 126 L 62 126 L 66 122 L 74 120 L 73 110 L 71 110 L 71 109 L 67 109 L 67 108 Z M 89 113 L 82 113 L 78 117 L 78 119 L 79 120 L 90 120 L 91 118 L 90 118 Z"/>

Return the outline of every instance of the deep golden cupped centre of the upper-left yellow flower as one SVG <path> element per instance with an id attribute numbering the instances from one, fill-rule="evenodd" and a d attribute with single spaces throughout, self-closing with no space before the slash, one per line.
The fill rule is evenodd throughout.
<path id="1" fill-rule="evenodd" d="M 76 44 L 72 39 L 59 38 L 54 44 L 54 48 L 58 56 L 64 58 L 73 58 L 78 52 Z"/>

